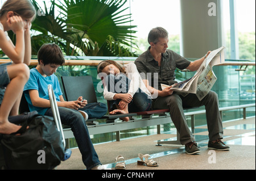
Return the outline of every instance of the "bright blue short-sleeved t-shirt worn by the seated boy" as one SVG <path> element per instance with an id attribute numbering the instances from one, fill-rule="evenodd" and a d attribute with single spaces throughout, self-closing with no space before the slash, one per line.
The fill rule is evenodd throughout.
<path id="1" fill-rule="evenodd" d="M 41 75 L 35 68 L 30 70 L 30 79 L 28 79 L 26 85 L 24 86 L 24 95 L 30 111 L 38 111 L 40 115 L 44 115 L 46 113 L 48 108 L 35 107 L 32 105 L 28 90 L 38 90 L 40 98 L 49 100 L 48 85 L 52 85 L 56 100 L 60 101 L 60 95 L 63 93 L 60 89 L 60 83 L 57 76 L 53 74 L 49 77 L 43 77 L 43 75 Z"/>

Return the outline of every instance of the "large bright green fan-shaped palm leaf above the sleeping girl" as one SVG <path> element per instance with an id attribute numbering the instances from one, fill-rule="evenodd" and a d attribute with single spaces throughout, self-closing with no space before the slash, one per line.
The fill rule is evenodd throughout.
<path id="1" fill-rule="evenodd" d="M 108 36 L 115 40 L 129 42 L 134 38 L 131 28 L 137 26 L 119 26 L 130 22 L 130 15 L 120 15 L 118 11 L 127 0 L 64 0 L 61 8 L 67 16 L 67 24 L 81 31 L 84 37 L 97 42 L 99 47 Z M 119 15 L 119 16 L 118 16 Z"/>

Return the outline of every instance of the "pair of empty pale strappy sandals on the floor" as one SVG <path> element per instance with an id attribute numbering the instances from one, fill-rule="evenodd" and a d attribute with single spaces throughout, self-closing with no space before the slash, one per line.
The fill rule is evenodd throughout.
<path id="1" fill-rule="evenodd" d="M 148 159 L 148 158 L 150 158 L 149 154 L 144 154 L 143 155 L 143 154 L 139 153 L 139 158 L 141 160 L 137 161 L 137 165 L 146 164 L 146 166 L 148 166 L 148 167 L 158 166 L 157 162 L 155 162 L 152 159 Z M 126 169 L 125 158 L 123 158 L 122 155 L 118 155 L 117 158 L 115 158 L 115 169 L 116 170 L 125 170 Z"/>

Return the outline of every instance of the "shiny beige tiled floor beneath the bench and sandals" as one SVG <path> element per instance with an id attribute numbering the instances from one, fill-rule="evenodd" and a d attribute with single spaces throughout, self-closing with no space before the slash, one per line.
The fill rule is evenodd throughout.
<path id="1" fill-rule="evenodd" d="M 94 145 L 101 163 L 109 169 L 114 169 L 114 159 L 118 155 L 125 157 L 126 170 L 187 170 L 187 169 L 255 169 L 255 117 L 245 120 L 226 121 L 224 139 L 229 151 L 209 151 L 208 131 L 206 126 L 196 127 L 195 138 L 201 153 L 188 155 L 184 146 L 155 146 L 158 140 L 176 138 L 176 131 L 170 134 L 155 134 L 151 136 L 131 138 L 120 142 L 109 142 Z M 151 159 L 159 163 L 158 167 L 137 165 L 138 153 L 150 154 Z M 214 155 L 216 162 L 210 163 Z M 57 169 L 86 169 L 81 161 L 78 149 L 72 149 L 72 156 L 62 162 Z"/>

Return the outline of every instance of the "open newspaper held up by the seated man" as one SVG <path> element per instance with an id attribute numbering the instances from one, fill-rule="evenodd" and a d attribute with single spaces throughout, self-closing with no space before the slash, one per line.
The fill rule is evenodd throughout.
<path id="1" fill-rule="evenodd" d="M 205 95 L 208 94 L 210 89 L 217 80 L 217 77 L 213 73 L 213 66 L 223 64 L 225 62 L 224 57 L 225 47 L 218 48 L 210 52 L 200 68 L 196 71 L 195 75 L 185 81 L 175 83 L 172 85 L 171 90 L 184 92 L 183 96 L 193 93 L 197 95 L 199 100 L 202 100 Z M 170 87 L 168 85 L 161 84 L 162 89 Z"/>

